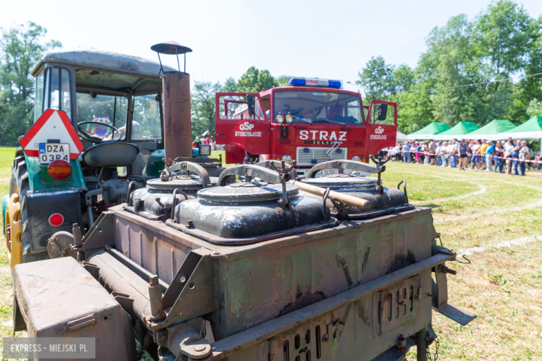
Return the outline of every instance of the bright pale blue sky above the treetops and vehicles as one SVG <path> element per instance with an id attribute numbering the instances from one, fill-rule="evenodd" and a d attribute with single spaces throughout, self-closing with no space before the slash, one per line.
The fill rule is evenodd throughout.
<path id="1" fill-rule="evenodd" d="M 0 27 L 28 21 L 65 48 L 117 51 L 156 59 L 152 44 L 192 48 L 192 81 L 239 78 L 252 65 L 272 75 L 356 81 L 371 56 L 416 66 L 435 26 L 489 1 L 3 1 Z M 523 1 L 532 17 L 542 1 Z M 174 56 L 164 56 L 176 67 Z M 182 61 L 182 59 L 181 59 Z M 352 85 L 345 85 L 355 90 Z"/>

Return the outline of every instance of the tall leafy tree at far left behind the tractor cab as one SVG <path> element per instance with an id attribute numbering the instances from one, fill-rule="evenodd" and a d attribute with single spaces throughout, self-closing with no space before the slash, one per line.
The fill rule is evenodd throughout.
<path id="1" fill-rule="evenodd" d="M 44 44 L 47 29 L 33 22 L 1 31 L 0 134 L 3 144 L 15 145 L 33 121 L 32 67 L 44 51 L 62 45 L 56 40 Z"/>

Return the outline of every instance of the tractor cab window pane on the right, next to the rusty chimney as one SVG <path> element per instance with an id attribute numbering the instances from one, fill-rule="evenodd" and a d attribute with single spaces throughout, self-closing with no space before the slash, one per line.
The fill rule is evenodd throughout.
<path id="1" fill-rule="evenodd" d="M 134 140 L 162 139 L 158 94 L 133 97 L 132 137 Z"/>

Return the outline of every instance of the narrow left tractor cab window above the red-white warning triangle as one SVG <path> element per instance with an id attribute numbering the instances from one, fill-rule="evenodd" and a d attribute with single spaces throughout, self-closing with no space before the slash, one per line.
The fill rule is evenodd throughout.
<path id="1" fill-rule="evenodd" d="M 64 110 L 68 118 L 72 119 L 72 106 L 69 95 L 69 72 L 67 69 L 49 68 L 46 70 L 43 106 L 43 110 L 47 108 Z"/>

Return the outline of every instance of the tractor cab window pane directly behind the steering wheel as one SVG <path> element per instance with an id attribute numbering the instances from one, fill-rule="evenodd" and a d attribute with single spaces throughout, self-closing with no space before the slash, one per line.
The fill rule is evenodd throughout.
<path id="1" fill-rule="evenodd" d="M 99 95 L 77 93 L 77 123 L 81 124 L 83 131 L 101 137 L 112 139 L 113 129 L 103 124 L 108 124 L 119 129 L 121 138 L 126 137 L 126 116 L 128 115 L 128 99 L 124 96 Z"/>

